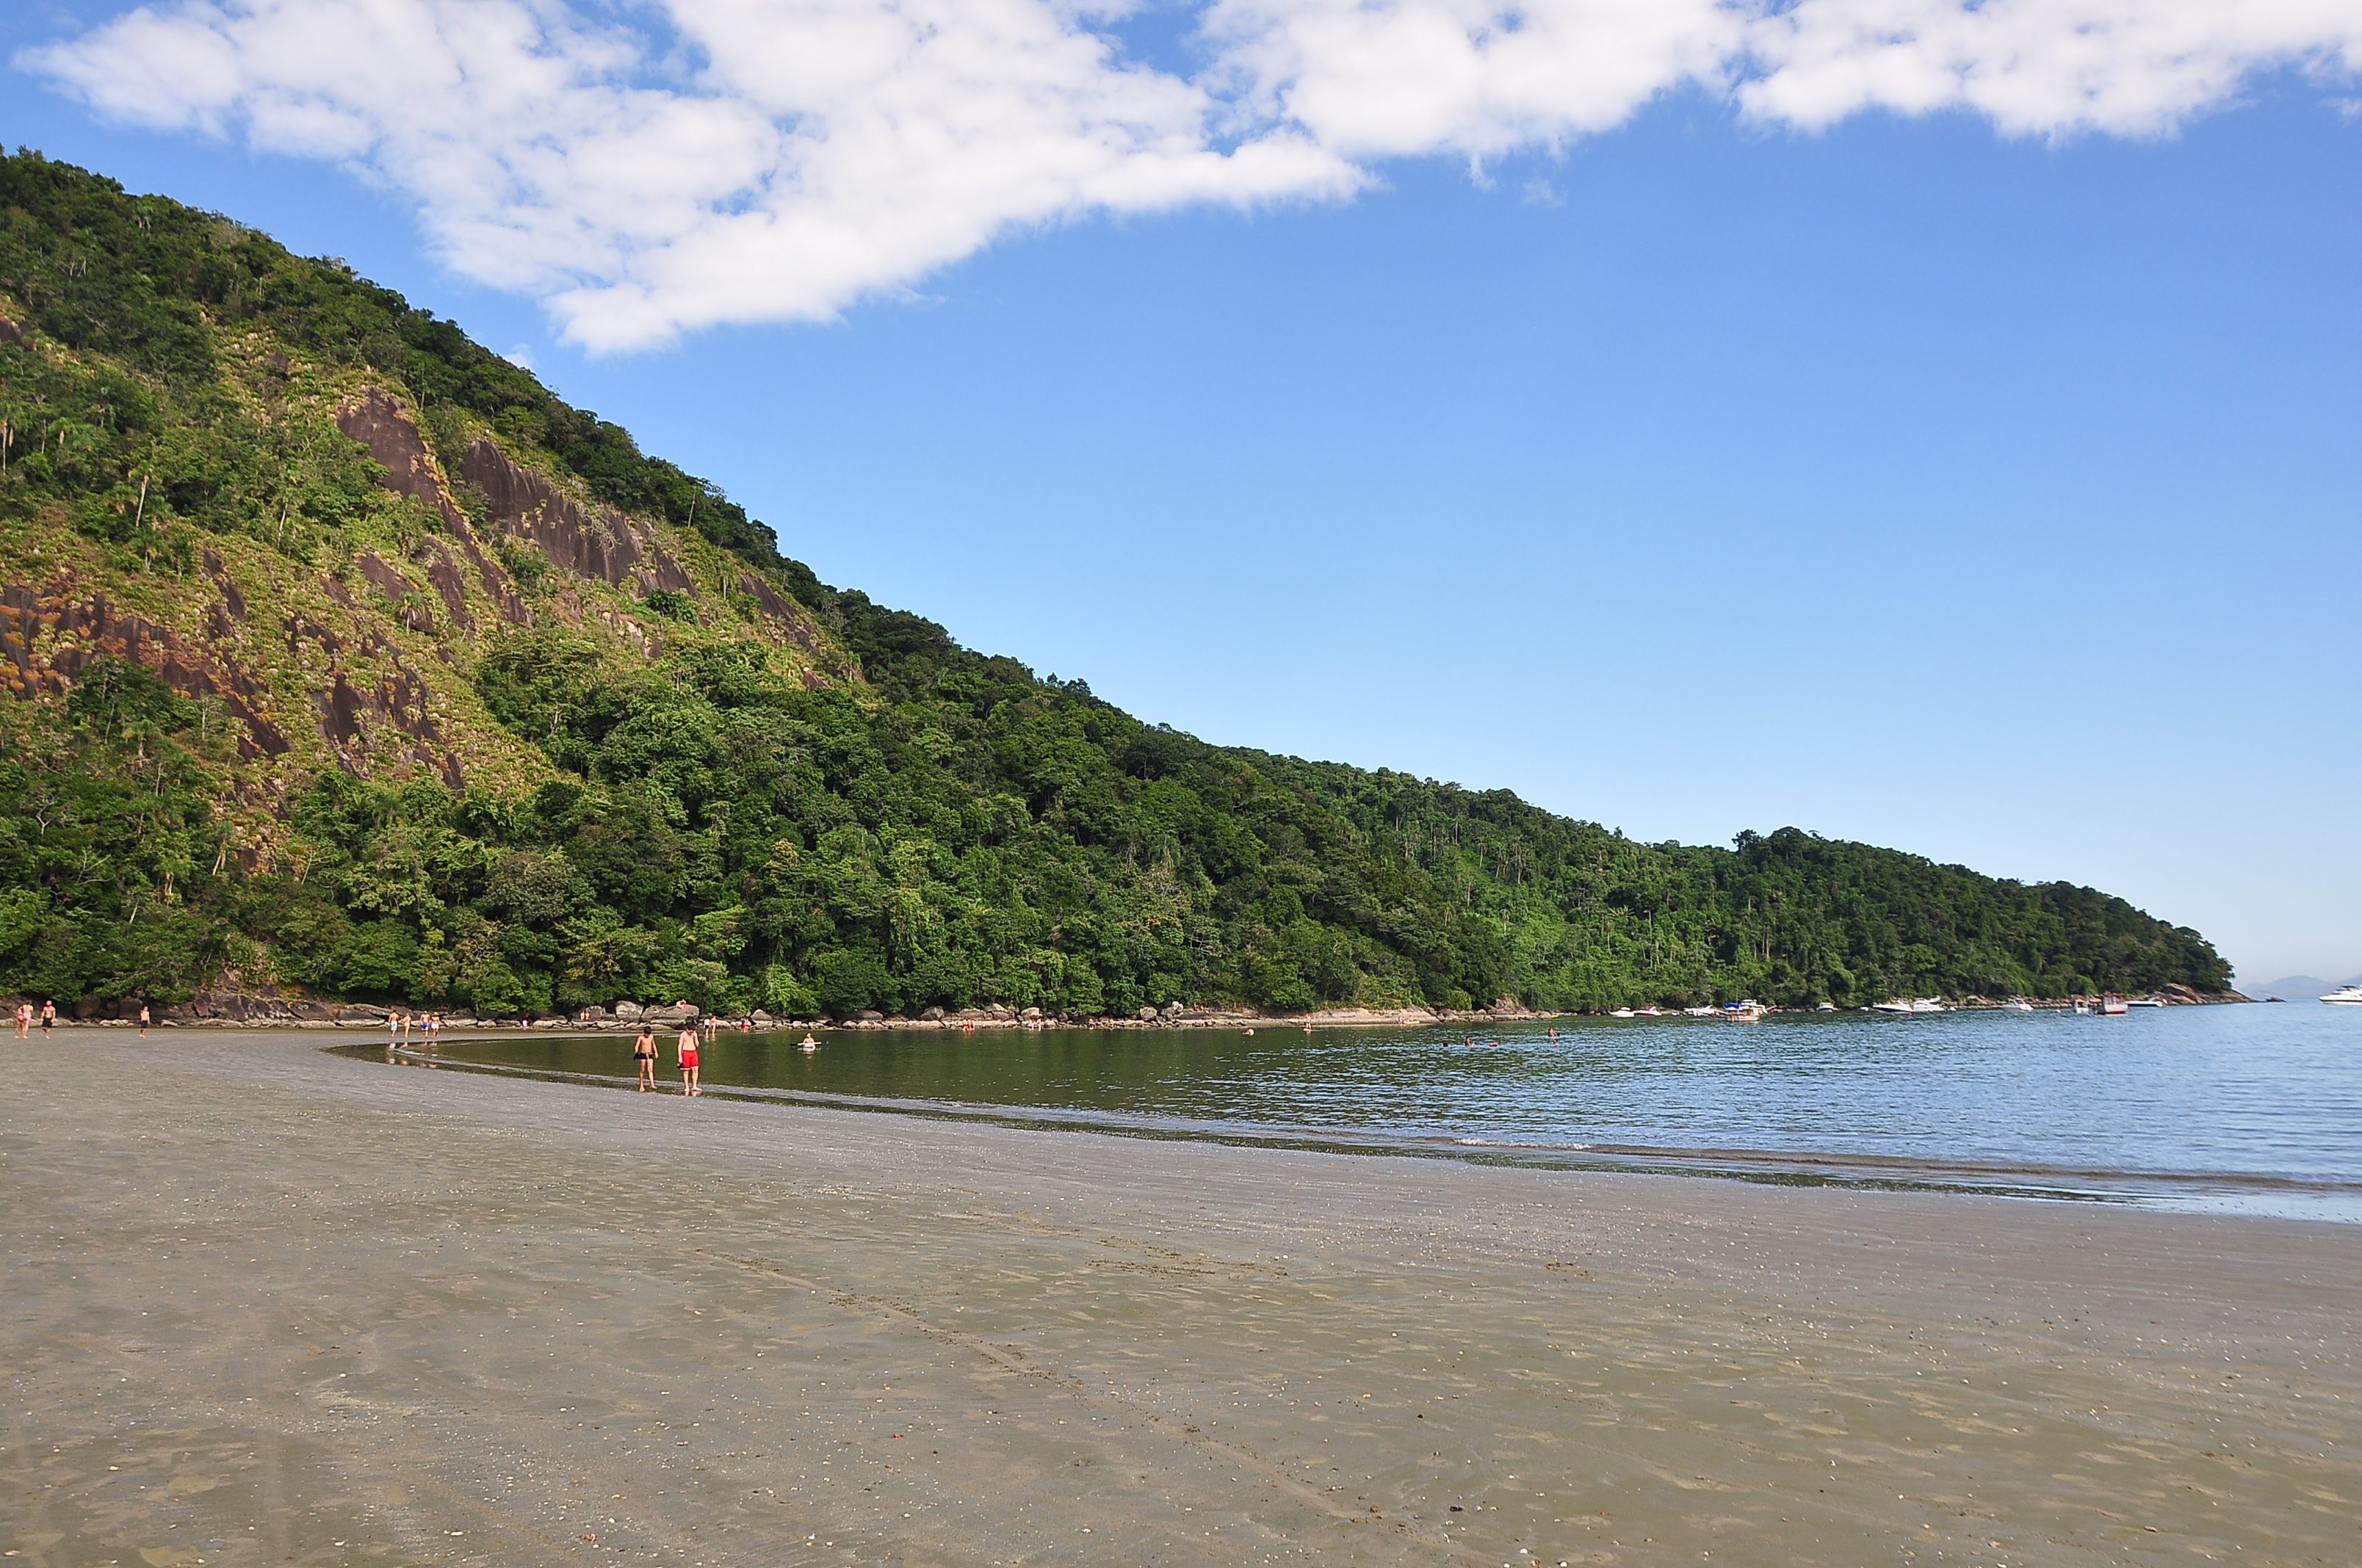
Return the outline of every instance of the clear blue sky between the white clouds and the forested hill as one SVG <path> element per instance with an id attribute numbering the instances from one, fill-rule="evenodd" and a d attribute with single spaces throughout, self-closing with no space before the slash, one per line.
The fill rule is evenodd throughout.
<path id="1" fill-rule="evenodd" d="M 1351 189 L 1070 196 L 739 295 L 503 276 L 413 165 L 253 111 L 128 125 L 24 54 L 90 24 L 0 24 L 0 137 L 345 255 L 973 647 L 1216 741 L 2362 971 L 2350 71 L 2045 135 L 1675 80 L 1481 168 L 1483 125 L 1394 153 L 1287 109 Z"/>

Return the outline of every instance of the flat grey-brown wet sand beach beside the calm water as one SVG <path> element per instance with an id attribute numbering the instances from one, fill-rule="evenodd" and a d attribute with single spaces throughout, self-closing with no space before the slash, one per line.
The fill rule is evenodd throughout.
<path id="1" fill-rule="evenodd" d="M 0 1041 L 14 1561 L 2362 1561 L 2357 1226 L 321 1044 Z"/>

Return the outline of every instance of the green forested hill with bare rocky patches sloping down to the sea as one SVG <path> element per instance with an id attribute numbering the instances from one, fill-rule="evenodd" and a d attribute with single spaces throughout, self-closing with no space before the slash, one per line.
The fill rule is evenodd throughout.
<path id="1" fill-rule="evenodd" d="M 1146 725 L 829 588 L 340 262 L 35 153 L 0 161 L 0 989 L 64 1001 L 2227 985 L 2088 888 Z"/>

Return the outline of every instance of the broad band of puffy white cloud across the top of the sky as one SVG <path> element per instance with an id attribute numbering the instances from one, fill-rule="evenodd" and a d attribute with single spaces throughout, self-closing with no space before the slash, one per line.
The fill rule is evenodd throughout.
<path id="1" fill-rule="evenodd" d="M 2258 71 L 2362 73 L 2362 0 L 172 0 L 19 66 L 99 113 L 350 163 L 451 267 L 638 347 L 817 319 L 1018 224 L 1339 198 L 1698 85 L 1797 128 L 1972 111 L 2171 130 Z"/>

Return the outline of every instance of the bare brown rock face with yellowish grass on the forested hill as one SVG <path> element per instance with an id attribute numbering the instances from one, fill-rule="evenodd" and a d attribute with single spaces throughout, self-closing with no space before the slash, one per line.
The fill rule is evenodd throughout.
<path id="1" fill-rule="evenodd" d="M 326 416 L 328 439 L 366 453 L 368 482 L 397 505 L 361 508 L 300 555 L 222 534 L 172 574 L 130 571 L 57 515 L 0 534 L 0 687 L 59 699 L 92 659 L 113 656 L 201 699 L 255 765 L 224 779 L 224 798 L 253 812 L 255 855 L 269 855 L 288 791 L 321 767 L 456 791 L 548 777 L 546 758 L 484 711 L 479 659 L 503 638 L 557 631 L 593 656 L 645 661 L 666 626 L 650 593 L 777 649 L 805 687 L 850 675 L 777 588 L 704 541 L 572 491 L 491 435 L 470 435 L 454 477 L 394 390 L 361 385 L 274 413 L 291 425 Z"/>

